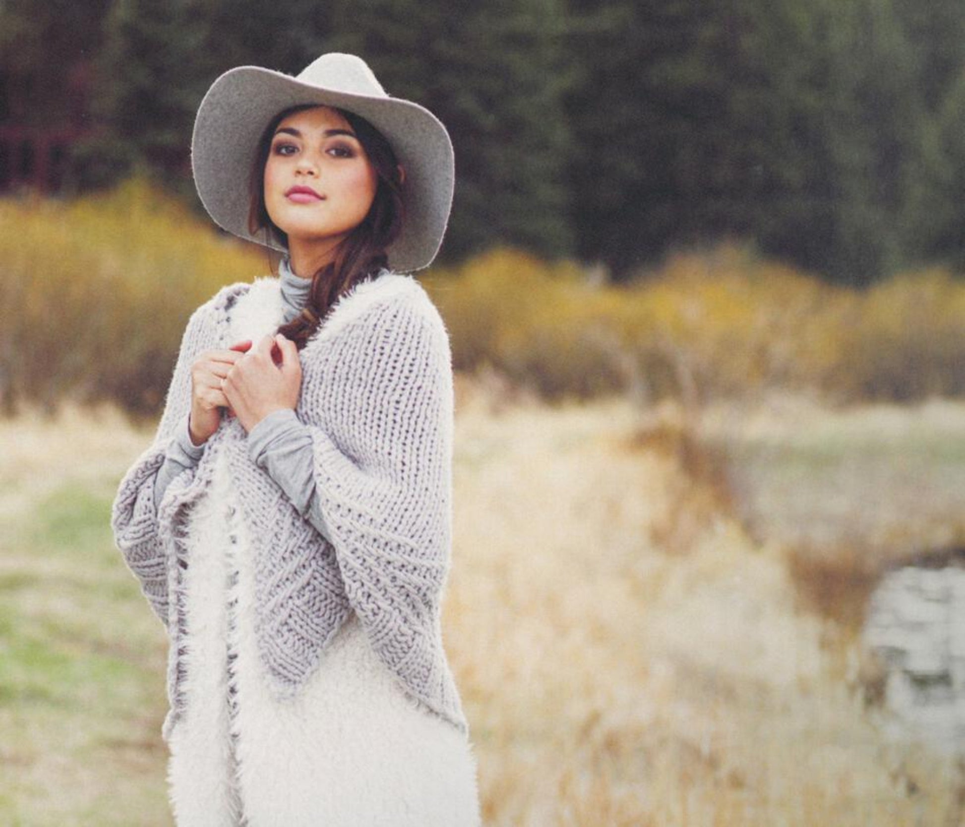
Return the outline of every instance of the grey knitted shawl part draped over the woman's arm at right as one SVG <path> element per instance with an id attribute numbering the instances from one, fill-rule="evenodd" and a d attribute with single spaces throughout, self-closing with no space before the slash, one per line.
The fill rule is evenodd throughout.
<path id="1" fill-rule="evenodd" d="M 333 427 L 309 425 L 316 492 L 345 594 L 413 694 L 458 707 L 440 604 L 452 534 L 449 339 L 425 295 L 372 311 L 326 360 Z M 359 367 L 359 354 L 371 360 Z M 312 387 L 303 387 L 309 402 Z M 455 718 L 458 717 L 455 713 Z"/>

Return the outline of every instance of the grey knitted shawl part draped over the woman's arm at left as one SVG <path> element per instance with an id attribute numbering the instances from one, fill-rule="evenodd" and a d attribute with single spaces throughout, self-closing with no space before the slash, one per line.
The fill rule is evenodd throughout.
<path id="1" fill-rule="evenodd" d="M 111 511 L 114 541 L 124 554 L 128 568 L 140 580 L 141 589 L 154 613 L 165 626 L 168 624 L 168 561 L 158 530 L 154 488 L 176 430 L 190 412 L 191 363 L 198 354 L 215 347 L 216 343 L 209 306 L 199 307 L 189 319 L 181 338 L 164 413 L 152 445 L 124 475 Z M 179 473 L 179 478 L 192 474 L 193 469 L 187 468 Z M 172 480 L 171 484 L 175 481 Z"/>

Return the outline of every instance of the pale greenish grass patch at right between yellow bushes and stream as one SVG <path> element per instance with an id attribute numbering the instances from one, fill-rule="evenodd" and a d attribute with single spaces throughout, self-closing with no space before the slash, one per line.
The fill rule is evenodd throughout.
<path id="1" fill-rule="evenodd" d="M 775 405 L 708 417 L 729 446 L 731 486 L 756 535 L 786 544 L 873 547 L 899 560 L 965 546 L 965 415 L 960 404 L 828 412 Z M 739 421 L 738 421 L 739 420 Z M 796 495 L 807 491 L 807 496 Z"/>

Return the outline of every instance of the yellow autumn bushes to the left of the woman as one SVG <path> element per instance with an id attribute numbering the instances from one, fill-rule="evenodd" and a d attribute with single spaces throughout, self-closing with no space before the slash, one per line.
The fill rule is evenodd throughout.
<path id="1" fill-rule="evenodd" d="M 143 181 L 69 202 L 0 200 L 0 403 L 65 396 L 157 412 L 188 316 L 266 271 Z"/>

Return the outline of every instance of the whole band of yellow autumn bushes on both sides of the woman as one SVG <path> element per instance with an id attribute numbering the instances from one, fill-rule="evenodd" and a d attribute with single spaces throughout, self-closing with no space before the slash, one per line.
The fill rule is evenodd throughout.
<path id="1" fill-rule="evenodd" d="M 143 181 L 0 200 L 0 405 L 70 396 L 155 414 L 191 311 L 268 272 L 263 253 Z M 965 394 L 965 280 L 943 270 L 858 291 L 725 245 L 621 285 L 513 250 L 420 279 L 457 370 L 493 369 L 546 399 Z"/>

